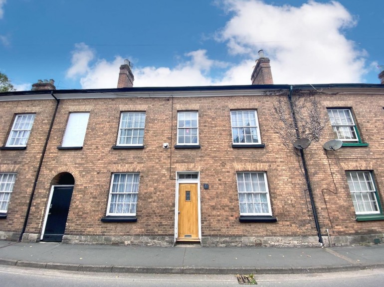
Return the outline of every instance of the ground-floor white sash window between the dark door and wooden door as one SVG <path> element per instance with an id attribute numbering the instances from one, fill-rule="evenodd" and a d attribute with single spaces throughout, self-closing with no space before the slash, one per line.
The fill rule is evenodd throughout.
<path id="1" fill-rule="evenodd" d="M 139 173 L 112 174 L 107 215 L 136 215 L 139 178 Z"/>

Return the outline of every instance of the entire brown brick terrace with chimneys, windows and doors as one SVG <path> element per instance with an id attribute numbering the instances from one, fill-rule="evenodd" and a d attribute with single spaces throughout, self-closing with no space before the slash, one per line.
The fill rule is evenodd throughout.
<path id="1" fill-rule="evenodd" d="M 260 54 L 247 86 L 133 88 L 126 62 L 117 89 L 1 93 L 0 239 L 383 242 L 379 77 L 273 85 Z"/>

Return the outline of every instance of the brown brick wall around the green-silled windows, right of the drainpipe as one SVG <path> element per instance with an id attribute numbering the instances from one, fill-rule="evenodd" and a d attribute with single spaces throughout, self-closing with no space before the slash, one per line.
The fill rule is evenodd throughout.
<path id="1" fill-rule="evenodd" d="M 362 140 L 369 143 L 369 146 L 342 147 L 335 152 L 326 152 L 322 145 L 329 139 L 334 139 L 329 123 L 320 142 L 312 143 L 305 150 L 322 233 L 326 234 L 326 228 L 331 235 L 383 233 L 383 220 L 355 220 L 355 209 L 345 174 L 351 170 L 373 171 L 380 201 L 384 203 L 384 138 L 381 132 L 384 123 L 383 95 L 321 95 L 321 108 L 326 110 L 327 107 L 351 108 Z"/>

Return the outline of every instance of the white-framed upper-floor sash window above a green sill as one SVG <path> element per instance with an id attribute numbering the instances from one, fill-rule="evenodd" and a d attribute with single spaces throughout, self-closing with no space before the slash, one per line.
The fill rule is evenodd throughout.
<path id="1" fill-rule="evenodd" d="M 328 108 L 328 116 L 336 139 L 359 142 L 358 130 L 349 108 Z"/>

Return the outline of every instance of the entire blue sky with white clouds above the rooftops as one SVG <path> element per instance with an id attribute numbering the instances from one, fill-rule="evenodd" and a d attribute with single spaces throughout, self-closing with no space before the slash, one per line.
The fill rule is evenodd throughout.
<path id="1" fill-rule="evenodd" d="M 0 0 L 0 72 L 18 90 L 247 85 L 257 51 L 275 84 L 379 84 L 382 0 Z"/>

